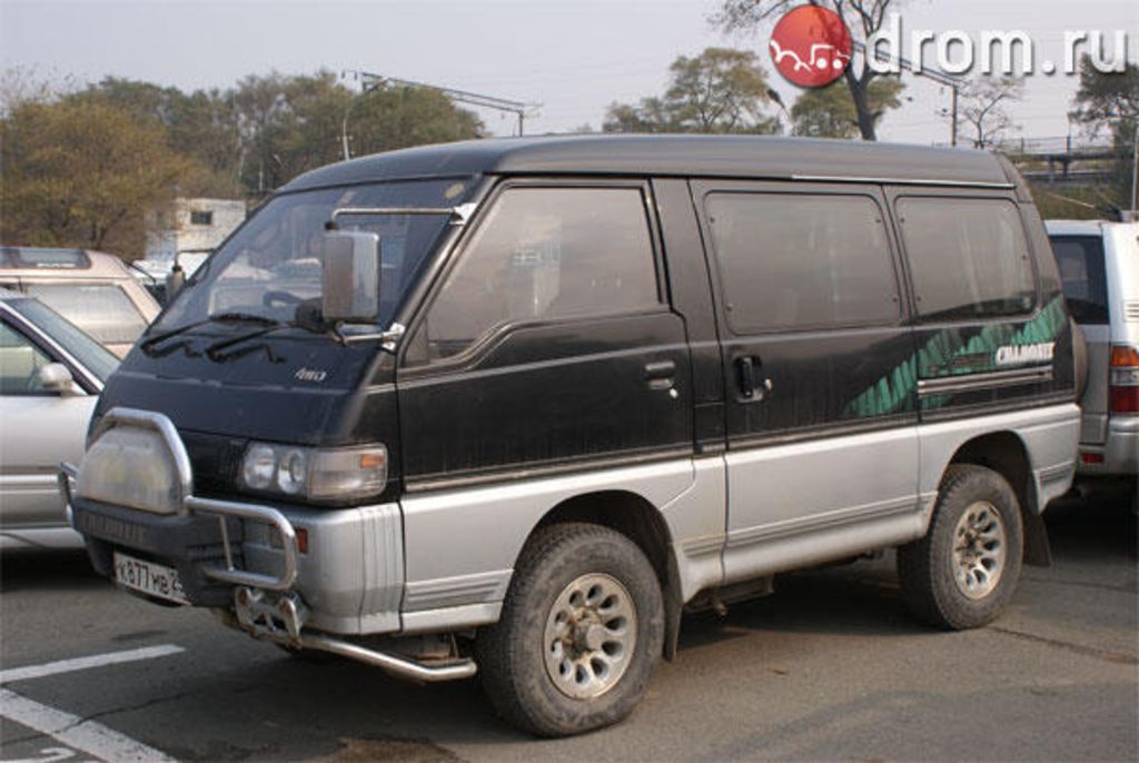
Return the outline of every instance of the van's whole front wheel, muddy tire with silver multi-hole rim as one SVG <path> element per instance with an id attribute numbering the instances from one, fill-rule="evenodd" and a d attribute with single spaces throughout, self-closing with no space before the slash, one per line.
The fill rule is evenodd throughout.
<path id="1" fill-rule="evenodd" d="M 499 714 L 558 737 L 629 715 L 663 639 L 661 585 L 640 548 L 607 527 L 564 524 L 527 543 L 501 618 L 475 648 Z"/>

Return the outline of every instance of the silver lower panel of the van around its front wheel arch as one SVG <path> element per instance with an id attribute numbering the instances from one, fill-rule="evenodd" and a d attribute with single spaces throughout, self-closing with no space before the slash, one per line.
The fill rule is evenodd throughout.
<path id="1" fill-rule="evenodd" d="M 697 471 L 703 479 L 698 487 Z M 718 532 L 714 522 L 693 518 L 691 512 L 710 516 L 719 512 L 719 532 L 722 532 L 722 501 L 702 502 L 705 498 L 715 500 L 715 479 L 708 483 L 708 477 L 706 469 L 698 470 L 693 460 L 686 458 L 404 498 L 404 624 L 425 630 L 423 622 L 427 616 L 416 613 L 440 613 L 439 607 L 444 605 L 458 614 L 459 608 L 468 605 L 501 602 L 515 559 L 534 526 L 558 503 L 576 495 L 622 491 L 640 495 L 653 506 L 665 507 L 673 539 L 681 544 L 688 538 L 686 533 Z M 482 622 L 493 622 L 498 616 L 495 607 L 482 607 L 476 612 L 490 617 Z M 442 613 L 431 618 L 445 626 L 451 624 Z M 481 622 L 468 620 L 465 623 L 476 624 Z"/>

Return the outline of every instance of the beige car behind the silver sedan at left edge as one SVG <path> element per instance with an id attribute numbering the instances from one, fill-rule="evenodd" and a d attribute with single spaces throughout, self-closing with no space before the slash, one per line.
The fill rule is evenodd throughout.
<path id="1" fill-rule="evenodd" d="M 0 247 L 0 287 L 40 298 L 120 358 L 159 311 L 122 260 L 103 252 Z"/>

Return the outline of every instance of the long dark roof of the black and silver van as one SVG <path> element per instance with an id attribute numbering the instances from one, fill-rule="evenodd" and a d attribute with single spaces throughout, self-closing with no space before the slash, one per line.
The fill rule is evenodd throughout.
<path id="1" fill-rule="evenodd" d="M 308 172 L 281 190 L 476 174 L 607 174 L 874 180 L 1011 187 L 988 151 L 768 136 L 495 138 L 374 154 Z"/>

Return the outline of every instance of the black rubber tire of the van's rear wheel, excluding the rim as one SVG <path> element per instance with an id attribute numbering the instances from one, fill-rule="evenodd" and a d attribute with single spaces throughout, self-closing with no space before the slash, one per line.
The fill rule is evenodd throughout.
<path id="1" fill-rule="evenodd" d="M 995 509 L 1003 525 L 1003 565 L 991 591 L 970 598 L 958 584 L 962 516 L 972 507 Z M 942 477 L 937 503 L 925 536 L 898 549 L 902 596 L 913 614 L 939 627 L 966 630 L 995 620 L 1016 591 L 1024 556 L 1024 527 L 1016 493 L 992 469 L 951 465 Z"/>

